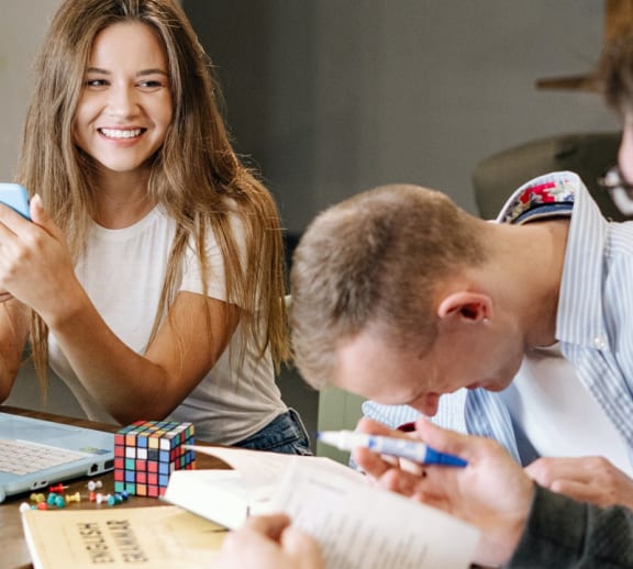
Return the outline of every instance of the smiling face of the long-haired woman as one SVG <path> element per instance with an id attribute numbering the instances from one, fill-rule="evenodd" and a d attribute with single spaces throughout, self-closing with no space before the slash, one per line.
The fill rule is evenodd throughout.
<path id="1" fill-rule="evenodd" d="M 154 31 L 113 24 L 95 38 L 74 121 L 75 143 L 102 172 L 143 168 L 173 116 L 168 63 Z"/>

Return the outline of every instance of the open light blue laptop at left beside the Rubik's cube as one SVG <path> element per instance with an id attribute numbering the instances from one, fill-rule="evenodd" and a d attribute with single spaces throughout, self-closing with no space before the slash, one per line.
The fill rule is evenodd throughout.
<path id="1" fill-rule="evenodd" d="M 114 468 L 114 433 L 0 412 L 0 502 Z"/>

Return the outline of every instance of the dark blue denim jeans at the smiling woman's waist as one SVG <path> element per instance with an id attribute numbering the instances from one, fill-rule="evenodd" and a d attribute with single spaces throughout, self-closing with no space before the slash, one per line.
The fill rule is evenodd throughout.
<path id="1" fill-rule="evenodd" d="M 264 428 L 233 446 L 287 455 L 312 455 L 306 427 L 293 409 L 288 409 Z"/>

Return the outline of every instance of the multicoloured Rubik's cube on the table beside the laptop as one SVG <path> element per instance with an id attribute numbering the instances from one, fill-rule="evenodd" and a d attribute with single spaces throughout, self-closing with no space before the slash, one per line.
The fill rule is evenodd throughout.
<path id="1" fill-rule="evenodd" d="M 136 421 L 114 435 L 114 491 L 157 498 L 174 470 L 196 466 L 193 425 L 176 421 Z"/>

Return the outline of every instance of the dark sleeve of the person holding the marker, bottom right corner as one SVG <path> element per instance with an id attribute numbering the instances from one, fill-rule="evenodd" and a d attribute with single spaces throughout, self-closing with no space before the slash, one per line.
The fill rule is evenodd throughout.
<path id="1" fill-rule="evenodd" d="M 598 507 L 536 486 L 508 569 L 633 568 L 633 511 Z"/>

